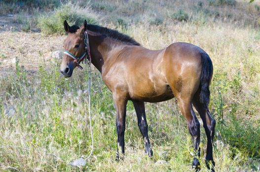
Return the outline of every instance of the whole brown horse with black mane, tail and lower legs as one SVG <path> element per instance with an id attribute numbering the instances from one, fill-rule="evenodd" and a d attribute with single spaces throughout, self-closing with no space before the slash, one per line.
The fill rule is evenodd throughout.
<path id="1" fill-rule="evenodd" d="M 138 126 L 145 142 L 146 153 L 152 156 L 144 102 L 161 102 L 176 97 L 192 137 L 195 156 L 192 167 L 200 170 L 200 123 L 192 105 L 202 118 L 207 135 L 206 164 L 214 171 L 212 142 L 216 121 L 210 115 L 209 85 L 213 74 L 210 57 L 201 48 L 188 43 L 174 43 L 163 50 L 151 51 L 131 37 L 116 30 L 88 25 L 79 28 L 64 22 L 68 33 L 64 49 L 74 57 L 84 54 L 88 37 L 92 64 L 101 72 L 106 86 L 112 92 L 116 108 L 117 153 L 124 156 L 126 104 L 134 104 Z M 79 61 L 80 62 L 80 61 Z M 78 61 L 64 55 L 61 73 L 71 77 Z M 118 150 L 120 149 L 120 151 Z"/>

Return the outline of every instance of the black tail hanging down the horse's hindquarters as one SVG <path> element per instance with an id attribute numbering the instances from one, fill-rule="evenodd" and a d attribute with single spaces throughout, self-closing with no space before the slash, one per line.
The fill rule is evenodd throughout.
<path id="1" fill-rule="evenodd" d="M 208 106 L 210 101 L 210 81 L 213 74 L 212 61 L 207 53 L 201 54 L 202 71 L 200 77 L 200 102 Z"/>

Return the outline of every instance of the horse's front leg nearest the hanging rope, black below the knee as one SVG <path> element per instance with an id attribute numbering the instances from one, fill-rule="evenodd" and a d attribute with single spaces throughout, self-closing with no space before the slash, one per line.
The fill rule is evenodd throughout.
<path id="1" fill-rule="evenodd" d="M 125 133 L 125 116 L 126 116 L 126 104 L 125 97 L 119 94 L 113 93 L 113 101 L 116 109 L 116 133 L 117 133 L 117 152 L 115 160 L 119 161 L 119 158 L 123 158 L 124 150 L 124 133 Z M 120 149 L 120 150 L 119 150 Z M 122 154 L 122 156 L 120 155 Z"/>

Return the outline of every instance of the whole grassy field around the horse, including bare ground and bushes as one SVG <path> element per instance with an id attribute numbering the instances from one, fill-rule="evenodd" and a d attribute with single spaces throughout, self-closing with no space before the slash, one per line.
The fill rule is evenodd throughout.
<path id="1" fill-rule="evenodd" d="M 248 0 L 249 1 L 249 0 Z M 192 172 L 192 143 L 175 99 L 146 103 L 153 157 L 145 154 L 132 102 L 127 104 L 126 156 L 114 161 L 115 108 L 92 66 L 93 156 L 88 71 L 60 74 L 63 21 L 117 29 L 142 46 L 173 42 L 203 48 L 214 65 L 209 110 L 217 121 L 216 172 L 260 171 L 260 1 L 3 0 L 0 2 L 1 172 Z M 201 123 L 202 172 L 206 135 Z"/>

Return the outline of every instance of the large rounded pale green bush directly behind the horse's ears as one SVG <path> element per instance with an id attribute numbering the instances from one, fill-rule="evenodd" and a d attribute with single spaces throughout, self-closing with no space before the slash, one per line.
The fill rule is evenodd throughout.
<path id="1" fill-rule="evenodd" d="M 50 15 L 44 15 L 38 18 L 38 27 L 45 34 L 64 34 L 63 23 L 67 20 L 70 25 L 80 26 L 84 20 L 90 24 L 98 23 L 96 15 L 88 6 L 80 8 L 72 3 L 67 3 L 55 9 Z"/>

